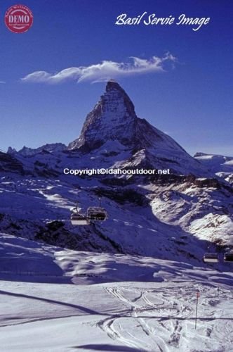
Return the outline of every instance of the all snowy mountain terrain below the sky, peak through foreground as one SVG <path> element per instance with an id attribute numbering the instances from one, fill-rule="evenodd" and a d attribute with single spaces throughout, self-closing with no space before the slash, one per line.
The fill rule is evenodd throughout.
<path id="1" fill-rule="evenodd" d="M 68 148 L 0 152 L 1 351 L 231 351 L 233 189 L 196 158 L 113 81 Z M 63 172 L 93 168 L 171 172 Z M 100 201 L 105 222 L 71 224 Z"/>

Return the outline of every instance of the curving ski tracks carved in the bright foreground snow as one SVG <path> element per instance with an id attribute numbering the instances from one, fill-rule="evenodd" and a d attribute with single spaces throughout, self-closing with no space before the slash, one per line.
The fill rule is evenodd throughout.
<path id="1" fill-rule="evenodd" d="M 133 289 L 131 287 L 106 288 L 108 294 L 123 302 L 128 311 L 124 316 L 107 318 L 99 323 L 109 337 L 117 339 L 138 351 L 170 352 L 170 346 L 179 346 L 182 326 L 175 319 L 192 310 L 162 290 Z M 170 336 L 169 341 L 165 337 Z"/>

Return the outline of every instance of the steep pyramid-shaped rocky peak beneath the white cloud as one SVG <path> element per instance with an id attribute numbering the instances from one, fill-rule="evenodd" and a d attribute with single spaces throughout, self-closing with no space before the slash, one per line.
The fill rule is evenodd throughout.
<path id="1" fill-rule="evenodd" d="M 114 80 L 107 82 L 105 93 L 86 116 L 79 138 L 68 149 L 89 152 L 111 141 L 134 151 L 159 147 L 183 151 L 173 139 L 137 117 L 128 94 Z"/>

